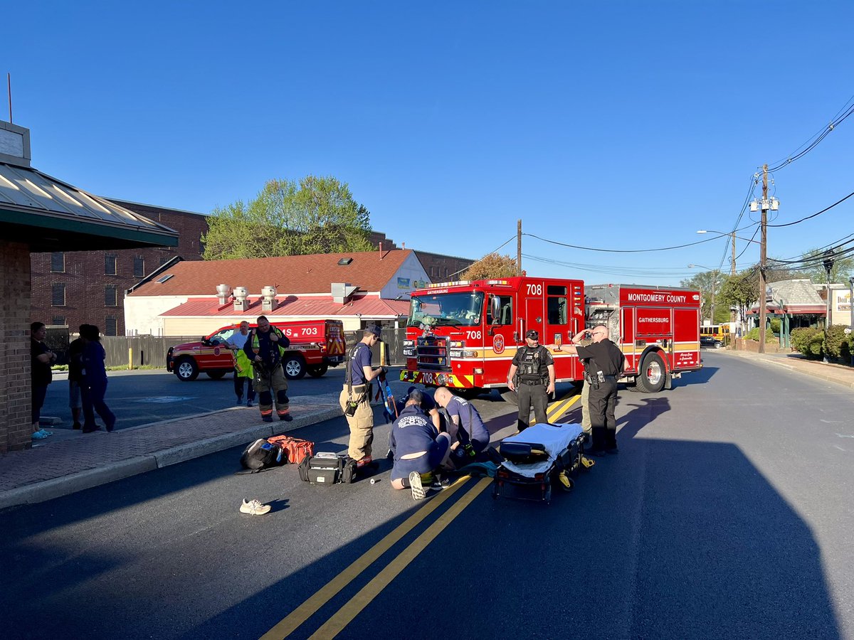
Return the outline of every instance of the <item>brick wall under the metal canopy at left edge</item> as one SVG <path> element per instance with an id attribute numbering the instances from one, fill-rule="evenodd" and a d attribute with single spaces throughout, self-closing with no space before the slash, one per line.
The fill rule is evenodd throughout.
<path id="1" fill-rule="evenodd" d="M 30 251 L 0 241 L 0 453 L 26 449 L 30 425 Z"/>

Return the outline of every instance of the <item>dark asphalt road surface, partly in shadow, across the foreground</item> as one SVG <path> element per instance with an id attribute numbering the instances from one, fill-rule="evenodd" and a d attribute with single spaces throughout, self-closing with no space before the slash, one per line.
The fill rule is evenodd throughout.
<path id="1" fill-rule="evenodd" d="M 296 610 L 289 637 L 854 638 L 850 391 L 704 360 L 670 392 L 622 392 L 620 454 L 551 506 L 477 480 L 413 503 L 385 467 L 375 485 L 235 475 L 231 450 L 9 509 L 4 636 L 261 637 Z M 512 432 L 507 404 L 477 406 Z M 296 434 L 342 451 L 346 432 Z M 240 515 L 244 496 L 272 513 Z"/>

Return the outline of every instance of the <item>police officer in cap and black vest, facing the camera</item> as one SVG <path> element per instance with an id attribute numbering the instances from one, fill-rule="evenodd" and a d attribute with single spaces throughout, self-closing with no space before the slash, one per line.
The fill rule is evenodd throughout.
<path id="1" fill-rule="evenodd" d="M 540 344 L 540 334 L 535 329 L 525 334 L 525 346 L 519 347 L 513 356 L 507 387 L 518 395 L 519 431 L 529 427 L 531 404 L 536 422 L 548 422 L 546 408 L 548 394 L 554 393 L 554 358 Z"/>

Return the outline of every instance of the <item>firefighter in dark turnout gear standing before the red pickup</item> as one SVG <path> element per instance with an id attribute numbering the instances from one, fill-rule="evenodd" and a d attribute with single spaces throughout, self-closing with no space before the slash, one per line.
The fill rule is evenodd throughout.
<path id="1" fill-rule="evenodd" d="M 284 377 L 282 352 L 290 346 L 288 336 L 270 326 L 266 316 L 258 317 L 258 328 L 249 331 L 243 352 L 254 369 L 254 389 L 258 393 L 261 420 L 272 422 L 272 392 L 276 392 L 276 413 L 279 420 L 290 422 L 288 379 Z"/>

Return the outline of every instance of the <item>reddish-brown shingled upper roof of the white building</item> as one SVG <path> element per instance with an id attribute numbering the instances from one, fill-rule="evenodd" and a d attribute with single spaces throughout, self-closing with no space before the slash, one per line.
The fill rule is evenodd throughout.
<path id="1" fill-rule="evenodd" d="M 260 295 L 272 285 L 288 294 L 319 294 L 332 282 L 348 282 L 361 291 L 379 291 L 395 276 L 411 249 L 354 253 L 320 253 L 240 260 L 187 260 L 169 267 L 130 295 L 214 295 L 218 284 L 246 287 L 249 295 Z M 341 259 L 352 259 L 338 265 Z M 417 258 L 416 258 L 417 259 Z M 157 282 L 171 275 L 166 282 Z M 408 303 L 407 303 L 408 304 Z"/>

